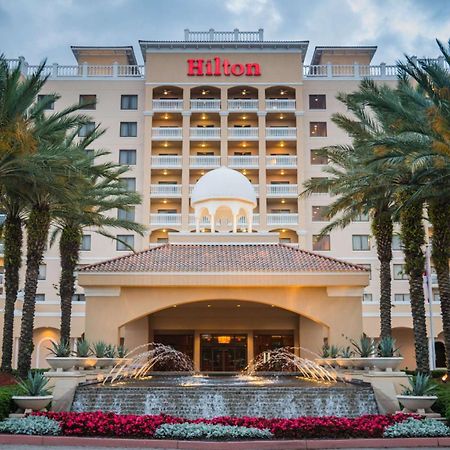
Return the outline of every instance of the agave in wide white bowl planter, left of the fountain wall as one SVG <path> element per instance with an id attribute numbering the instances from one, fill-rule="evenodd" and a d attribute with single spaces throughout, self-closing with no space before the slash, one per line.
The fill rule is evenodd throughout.
<path id="1" fill-rule="evenodd" d="M 53 399 L 47 389 L 49 379 L 42 372 L 28 372 L 26 380 L 19 381 L 21 395 L 13 395 L 16 405 L 27 411 L 40 411 Z"/>

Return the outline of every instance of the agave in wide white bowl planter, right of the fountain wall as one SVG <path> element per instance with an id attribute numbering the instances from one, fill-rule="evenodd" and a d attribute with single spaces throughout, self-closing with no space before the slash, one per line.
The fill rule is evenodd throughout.
<path id="1" fill-rule="evenodd" d="M 420 414 L 429 410 L 437 396 L 436 385 L 432 382 L 429 375 L 418 373 L 417 375 L 408 377 L 409 386 L 404 388 L 397 400 L 403 405 L 403 412 L 418 412 Z"/>

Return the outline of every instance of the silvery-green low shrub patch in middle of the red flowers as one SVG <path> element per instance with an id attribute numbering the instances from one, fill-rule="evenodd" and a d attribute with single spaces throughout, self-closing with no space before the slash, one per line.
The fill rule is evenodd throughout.
<path id="1" fill-rule="evenodd" d="M 239 439 L 271 439 L 267 429 L 247 428 L 206 423 L 174 423 L 160 425 L 155 432 L 157 439 L 207 439 L 232 441 Z"/>

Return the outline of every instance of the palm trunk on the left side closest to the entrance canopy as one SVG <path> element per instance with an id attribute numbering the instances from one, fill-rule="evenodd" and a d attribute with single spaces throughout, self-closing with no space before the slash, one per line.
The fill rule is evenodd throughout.
<path id="1" fill-rule="evenodd" d="M 78 264 L 81 243 L 81 231 L 78 226 L 66 225 L 59 241 L 61 257 L 61 277 L 59 295 L 61 297 L 61 341 L 70 340 L 70 319 L 72 315 L 72 297 L 75 292 L 75 268 Z"/>

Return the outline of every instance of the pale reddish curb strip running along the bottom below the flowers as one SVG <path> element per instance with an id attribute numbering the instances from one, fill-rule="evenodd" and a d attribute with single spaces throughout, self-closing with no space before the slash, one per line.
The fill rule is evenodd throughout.
<path id="1" fill-rule="evenodd" d="M 155 448 L 185 450 L 297 450 L 335 448 L 420 448 L 450 447 L 450 437 L 398 438 L 398 439 L 324 439 L 277 441 L 175 441 L 161 439 L 120 439 L 76 436 L 27 436 L 0 434 L 3 445 L 104 447 L 104 448 Z"/>

